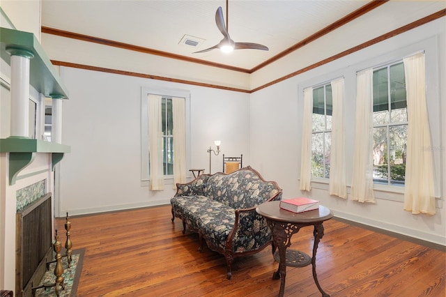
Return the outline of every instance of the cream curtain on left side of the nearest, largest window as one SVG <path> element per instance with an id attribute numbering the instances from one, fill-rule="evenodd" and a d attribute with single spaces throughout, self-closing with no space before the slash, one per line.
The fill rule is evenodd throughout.
<path id="1" fill-rule="evenodd" d="M 375 202 L 373 180 L 373 69 L 356 75 L 355 148 L 350 197 Z"/>

